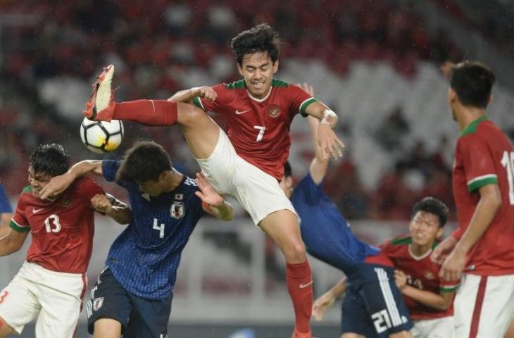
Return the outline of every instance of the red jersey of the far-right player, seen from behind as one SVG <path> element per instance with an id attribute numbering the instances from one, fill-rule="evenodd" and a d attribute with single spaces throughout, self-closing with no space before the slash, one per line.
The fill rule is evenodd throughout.
<path id="1" fill-rule="evenodd" d="M 477 208 L 478 189 L 498 184 L 501 207 L 468 254 L 468 271 L 476 275 L 514 274 L 514 151 L 503 132 L 483 116 L 460 132 L 453 163 L 453 197 L 460 239 Z"/>

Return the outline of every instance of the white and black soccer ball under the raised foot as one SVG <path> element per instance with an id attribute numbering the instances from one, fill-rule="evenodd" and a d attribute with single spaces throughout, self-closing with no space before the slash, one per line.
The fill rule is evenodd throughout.
<path id="1" fill-rule="evenodd" d="M 84 146 L 97 154 L 116 150 L 123 139 L 123 123 L 120 120 L 106 122 L 84 118 L 80 125 L 80 138 Z"/>

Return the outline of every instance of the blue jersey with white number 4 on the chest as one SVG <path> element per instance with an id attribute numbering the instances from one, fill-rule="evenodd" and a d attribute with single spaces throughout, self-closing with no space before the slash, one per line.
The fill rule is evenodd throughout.
<path id="1" fill-rule="evenodd" d="M 114 181 L 120 161 L 102 161 L 104 177 Z M 206 214 L 194 192 L 196 182 L 184 175 L 173 192 L 149 196 L 135 182 L 118 181 L 127 189 L 132 223 L 115 239 L 106 265 L 128 292 L 163 299 L 173 292 L 182 250 L 196 223 Z"/>

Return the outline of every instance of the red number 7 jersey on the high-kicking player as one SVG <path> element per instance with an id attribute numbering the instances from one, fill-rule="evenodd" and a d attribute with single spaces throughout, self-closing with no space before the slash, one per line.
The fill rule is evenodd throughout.
<path id="1" fill-rule="evenodd" d="M 216 84 L 215 101 L 196 97 L 193 103 L 204 111 L 222 114 L 227 136 L 236 153 L 265 173 L 282 180 L 289 156 L 289 126 L 294 115 L 317 101 L 296 85 L 272 80 L 268 96 L 256 99 L 244 80 Z"/>

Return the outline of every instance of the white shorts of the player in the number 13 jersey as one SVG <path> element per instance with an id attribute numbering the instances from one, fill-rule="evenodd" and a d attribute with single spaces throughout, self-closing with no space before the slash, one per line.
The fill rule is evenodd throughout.
<path id="1" fill-rule="evenodd" d="M 86 287 L 84 274 L 56 273 L 25 262 L 0 292 L 0 317 L 18 334 L 37 318 L 36 337 L 73 337 Z"/>

